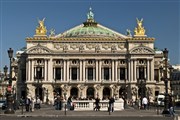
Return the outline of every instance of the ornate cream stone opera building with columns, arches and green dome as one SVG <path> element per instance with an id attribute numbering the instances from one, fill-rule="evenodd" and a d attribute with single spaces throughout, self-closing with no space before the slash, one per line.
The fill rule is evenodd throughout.
<path id="1" fill-rule="evenodd" d="M 163 53 L 154 49 L 143 19 L 137 19 L 134 35 L 123 35 L 97 23 L 90 9 L 87 20 L 70 30 L 47 34 L 39 20 L 26 49 L 17 52 L 18 96 L 39 96 L 53 101 L 56 94 L 67 98 L 135 99 L 164 92 L 159 67 Z"/>

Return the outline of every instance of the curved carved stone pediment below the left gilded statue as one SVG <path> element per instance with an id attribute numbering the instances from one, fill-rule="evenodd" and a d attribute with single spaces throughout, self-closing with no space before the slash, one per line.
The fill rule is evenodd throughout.
<path id="1" fill-rule="evenodd" d="M 31 54 L 47 54 L 47 53 L 51 53 L 51 51 L 43 46 L 35 46 L 30 48 L 29 50 L 27 50 L 27 53 L 31 53 Z"/>

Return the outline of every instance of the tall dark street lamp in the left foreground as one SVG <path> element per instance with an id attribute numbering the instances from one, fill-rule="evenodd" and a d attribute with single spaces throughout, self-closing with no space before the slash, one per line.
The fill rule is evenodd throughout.
<path id="1" fill-rule="evenodd" d="M 5 114 L 14 114 L 14 107 L 13 107 L 13 96 L 12 92 L 12 58 L 13 58 L 13 49 L 9 48 L 8 50 L 9 60 L 10 60 L 10 74 L 8 79 L 8 87 L 7 87 L 7 94 L 6 94 L 6 101 L 7 101 L 7 109 L 4 111 Z M 7 72 L 7 66 L 4 67 L 5 72 Z"/>

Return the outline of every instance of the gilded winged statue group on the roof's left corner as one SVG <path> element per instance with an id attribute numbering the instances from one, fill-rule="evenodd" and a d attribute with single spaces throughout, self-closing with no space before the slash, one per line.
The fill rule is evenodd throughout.
<path id="1" fill-rule="evenodd" d="M 38 20 L 39 26 L 36 27 L 36 35 L 46 35 L 47 30 L 46 26 L 44 26 L 44 20 L 45 18 L 43 18 L 43 20 Z"/>

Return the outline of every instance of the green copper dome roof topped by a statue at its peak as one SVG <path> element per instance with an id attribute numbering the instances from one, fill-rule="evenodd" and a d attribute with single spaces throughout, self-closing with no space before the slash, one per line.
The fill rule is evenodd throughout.
<path id="1" fill-rule="evenodd" d="M 127 36 L 122 35 L 118 32 L 115 32 L 107 27 L 104 27 L 98 24 L 94 20 L 94 13 L 92 9 L 89 9 L 87 13 L 87 21 L 83 24 L 74 27 L 68 31 L 65 31 L 62 34 L 57 35 L 56 37 L 64 38 L 88 38 L 88 37 L 101 37 L 101 38 L 126 38 Z"/>

